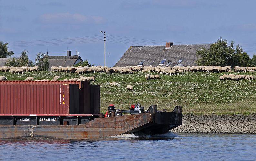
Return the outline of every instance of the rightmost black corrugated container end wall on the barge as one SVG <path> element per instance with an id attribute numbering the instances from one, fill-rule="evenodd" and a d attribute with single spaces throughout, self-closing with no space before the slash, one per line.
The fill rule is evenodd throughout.
<path id="1" fill-rule="evenodd" d="M 100 86 L 91 85 L 91 114 L 100 113 Z"/>

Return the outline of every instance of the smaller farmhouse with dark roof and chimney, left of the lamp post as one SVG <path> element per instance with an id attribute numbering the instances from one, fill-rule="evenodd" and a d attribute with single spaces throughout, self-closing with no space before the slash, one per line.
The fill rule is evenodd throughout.
<path id="1" fill-rule="evenodd" d="M 51 70 L 52 66 L 74 66 L 78 62 L 83 62 L 79 54 L 71 55 L 71 50 L 67 50 L 67 56 L 48 56 L 48 61 L 50 63 L 49 70 Z"/>

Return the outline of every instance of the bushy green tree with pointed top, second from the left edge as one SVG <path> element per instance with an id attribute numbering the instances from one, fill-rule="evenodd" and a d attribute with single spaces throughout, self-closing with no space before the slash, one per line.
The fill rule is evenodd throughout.
<path id="1" fill-rule="evenodd" d="M 20 53 L 20 57 L 12 57 L 7 59 L 5 65 L 6 66 L 15 66 L 15 67 L 22 67 L 22 66 L 32 66 L 33 62 L 28 58 L 28 51 L 23 50 Z"/>

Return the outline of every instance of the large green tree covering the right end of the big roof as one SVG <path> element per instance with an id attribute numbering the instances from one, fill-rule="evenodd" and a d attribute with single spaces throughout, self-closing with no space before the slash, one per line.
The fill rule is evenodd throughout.
<path id="1" fill-rule="evenodd" d="M 243 55 L 243 53 L 243 49 L 239 45 L 234 49 L 233 41 L 228 45 L 227 40 L 220 38 L 215 43 L 211 44 L 209 49 L 202 48 L 196 51 L 196 54 L 200 56 L 196 64 L 198 66 L 239 66 L 240 55 Z"/>

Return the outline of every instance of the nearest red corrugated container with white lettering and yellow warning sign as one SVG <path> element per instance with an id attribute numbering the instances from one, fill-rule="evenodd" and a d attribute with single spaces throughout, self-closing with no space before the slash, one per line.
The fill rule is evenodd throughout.
<path id="1" fill-rule="evenodd" d="M 69 102 L 78 93 L 76 89 L 78 85 L 0 85 L 0 114 L 70 114 L 70 109 L 72 113 L 79 109 Z"/>

